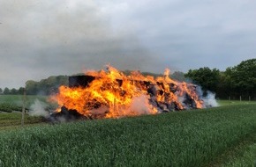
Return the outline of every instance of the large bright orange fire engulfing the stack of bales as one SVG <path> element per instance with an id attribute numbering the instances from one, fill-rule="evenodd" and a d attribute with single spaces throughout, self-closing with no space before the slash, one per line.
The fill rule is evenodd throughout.
<path id="1" fill-rule="evenodd" d="M 119 118 L 204 107 L 196 86 L 172 80 L 169 69 L 157 78 L 107 69 L 87 71 L 85 76 L 93 79 L 86 86 L 60 86 L 52 97 L 59 106 L 57 112 L 65 107 L 88 118 Z"/>

